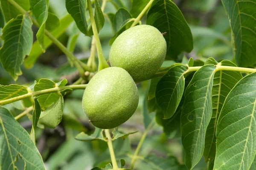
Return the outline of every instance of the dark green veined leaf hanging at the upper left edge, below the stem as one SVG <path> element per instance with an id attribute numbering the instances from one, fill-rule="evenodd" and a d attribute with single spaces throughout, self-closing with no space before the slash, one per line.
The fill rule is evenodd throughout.
<path id="1" fill-rule="evenodd" d="M 0 49 L 0 60 L 3 68 L 16 81 L 22 74 L 20 65 L 29 54 L 32 43 L 32 21 L 26 15 L 18 15 L 9 20 L 3 28 L 3 46 Z"/>

